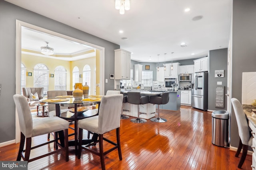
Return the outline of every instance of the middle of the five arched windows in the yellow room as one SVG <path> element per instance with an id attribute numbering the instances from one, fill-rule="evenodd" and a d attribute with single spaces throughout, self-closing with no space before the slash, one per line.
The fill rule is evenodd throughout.
<path id="1" fill-rule="evenodd" d="M 54 90 L 67 90 L 67 70 L 64 66 L 57 66 L 54 70 Z"/>

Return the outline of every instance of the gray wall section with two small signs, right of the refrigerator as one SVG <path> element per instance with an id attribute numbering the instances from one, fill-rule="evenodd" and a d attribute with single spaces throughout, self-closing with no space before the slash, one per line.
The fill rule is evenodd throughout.
<path id="1" fill-rule="evenodd" d="M 227 94 L 228 80 L 228 49 L 211 50 L 209 52 L 210 68 L 208 71 L 208 110 L 227 110 L 227 98 L 224 96 L 224 108 L 215 107 L 215 93 L 217 82 L 225 86 L 224 94 Z M 215 77 L 215 70 L 224 70 L 224 77 Z"/>

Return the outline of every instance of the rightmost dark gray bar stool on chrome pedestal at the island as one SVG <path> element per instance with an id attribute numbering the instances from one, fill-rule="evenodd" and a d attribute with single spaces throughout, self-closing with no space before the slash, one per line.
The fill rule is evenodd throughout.
<path id="1" fill-rule="evenodd" d="M 158 123 L 166 122 L 167 120 L 164 118 L 159 117 L 159 105 L 160 104 L 167 104 L 169 102 L 169 93 L 170 92 L 163 92 L 160 96 L 150 96 L 150 103 L 158 105 L 158 116 L 153 117 L 150 120 Z"/>

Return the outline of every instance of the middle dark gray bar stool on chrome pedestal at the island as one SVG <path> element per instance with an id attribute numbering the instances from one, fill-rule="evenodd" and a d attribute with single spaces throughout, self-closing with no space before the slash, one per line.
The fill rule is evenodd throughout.
<path id="1" fill-rule="evenodd" d="M 133 123 L 146 123 L 146 119 L 140 119 L 140 104 L 148 104 L 148 96 L 140 96 L 140 92 L 127 92 L 127 102 L 138 106 L 138 117 L 131 119 Z"/>

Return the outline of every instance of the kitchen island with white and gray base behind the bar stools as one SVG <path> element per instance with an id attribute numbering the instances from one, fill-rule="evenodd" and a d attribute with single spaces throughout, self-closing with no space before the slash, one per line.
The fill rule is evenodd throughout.
<path id="1" fill-rule="evenodd" d="M 121 90 L 121 92 L 124 93 L 124 95 L 127 95 L 130 91 L 140 91 L 141 96 L 158 96 L 162 94 L 162 91 L 157 90 L 142 90 L 142 89 L 133 89 L 133 90 Z M 160 105 L 160 109 L 166 109 L 166 110 L 174 110 L 178 111 L 180 109 L 180 91 L 169 91 L 169 102 L 165 105 Z M 140 118 L 143 119 L 150 119 L 152 117 L 155 117 L 157 105 L 155 104 L 141 104 L 140 105 Z M 123 103 L 123 114 L 129 115 L 133 117 L 138 116 L 138 110 L 137 105 L 130 104 L 130 103 Z"/>

